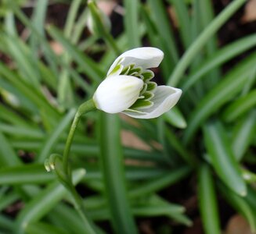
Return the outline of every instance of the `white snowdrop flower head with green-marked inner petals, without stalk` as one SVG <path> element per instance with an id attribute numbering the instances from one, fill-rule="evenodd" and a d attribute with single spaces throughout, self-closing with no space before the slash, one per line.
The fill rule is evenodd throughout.
<path id="1" fill-rule="evenodd" d="M 157 86 L 149 68 L 159 66 L 164 53 L 158 48 L 135 48 L 124 52 L 110 66 L 106 79 L 99 84 L 93 101 L 108 113 L 122 112 L 138 119 L 152 119 L 168 112 L 182 90 Z"/>

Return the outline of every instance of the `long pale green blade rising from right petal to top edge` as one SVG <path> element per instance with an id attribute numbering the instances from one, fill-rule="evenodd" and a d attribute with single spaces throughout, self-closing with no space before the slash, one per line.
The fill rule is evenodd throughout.
<path id="1" fill-rule="evenodd" d="M 243 5 L 247 0 L 235 0 L 230 3 L 216 18 L 213 20 L 208 27 L 197 37 L 197 40 L 191 44 L 186 53 L 182 56 L 180 62 L 178 62 L 178 66 L 176 66 L 175 71 L 171 74 L 169 78 L 168 85 L 176 86 L 179 80 L 182 78 L 185 73 L 189 63 L 193 60 L 193 58 L 197 55 L 198 51 L 204 47 L 204 44 L 207 43 L 209 38 L 215 32 L 222 27 L 222 25 L 229 19 L 230 16 L 236 12 L 237 9 Z"/>

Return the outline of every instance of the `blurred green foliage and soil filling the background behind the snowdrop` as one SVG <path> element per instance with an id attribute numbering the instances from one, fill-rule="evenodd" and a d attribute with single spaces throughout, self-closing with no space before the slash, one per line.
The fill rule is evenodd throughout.
<path id="1" fill-rule="evenodd" d="M 96 232 L 254 232 L 255 0 L 96 3 L 112 24 L 101 34 L 86 1 L 0 3 L 0 232 L 85 233 L 43 163 L 117 55 L 140 46 L 164 51 L 154 79 L 183 94 L 158 119 L 83 117 L 70 164 Z"/>

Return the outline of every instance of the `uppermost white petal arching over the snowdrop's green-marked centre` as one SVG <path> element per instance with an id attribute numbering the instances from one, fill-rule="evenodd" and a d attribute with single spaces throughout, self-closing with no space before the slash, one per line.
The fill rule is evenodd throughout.
<path id="1" fill-rule="evenodd" d="M 107 76 L 111 73 L 114 67 L 117 66 L 117 62 L 119 61 L 121 61 L 121 65 L 124 67 L 134 63 L 135 66 L 141 66 L 142 69 L 149 69 L 159 66 L 163 58 L 164 53 L 158 48 L 134 48 L 132 50 L 125 51 L 114 61 L 114 63 L 110 66 Z"/>

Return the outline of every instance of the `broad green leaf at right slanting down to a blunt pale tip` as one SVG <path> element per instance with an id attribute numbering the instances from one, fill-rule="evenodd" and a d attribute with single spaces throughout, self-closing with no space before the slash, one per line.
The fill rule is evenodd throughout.
<path id="1" fill-rule="evenodd" d="M 212 121 L 204 126 L 204 142 L 215 172 L 230 190 L 244 197 L 247 187 L 241 175 L 240 165 L 235 160 L 225 136 L 225 129 L 220 122 Z"/>

